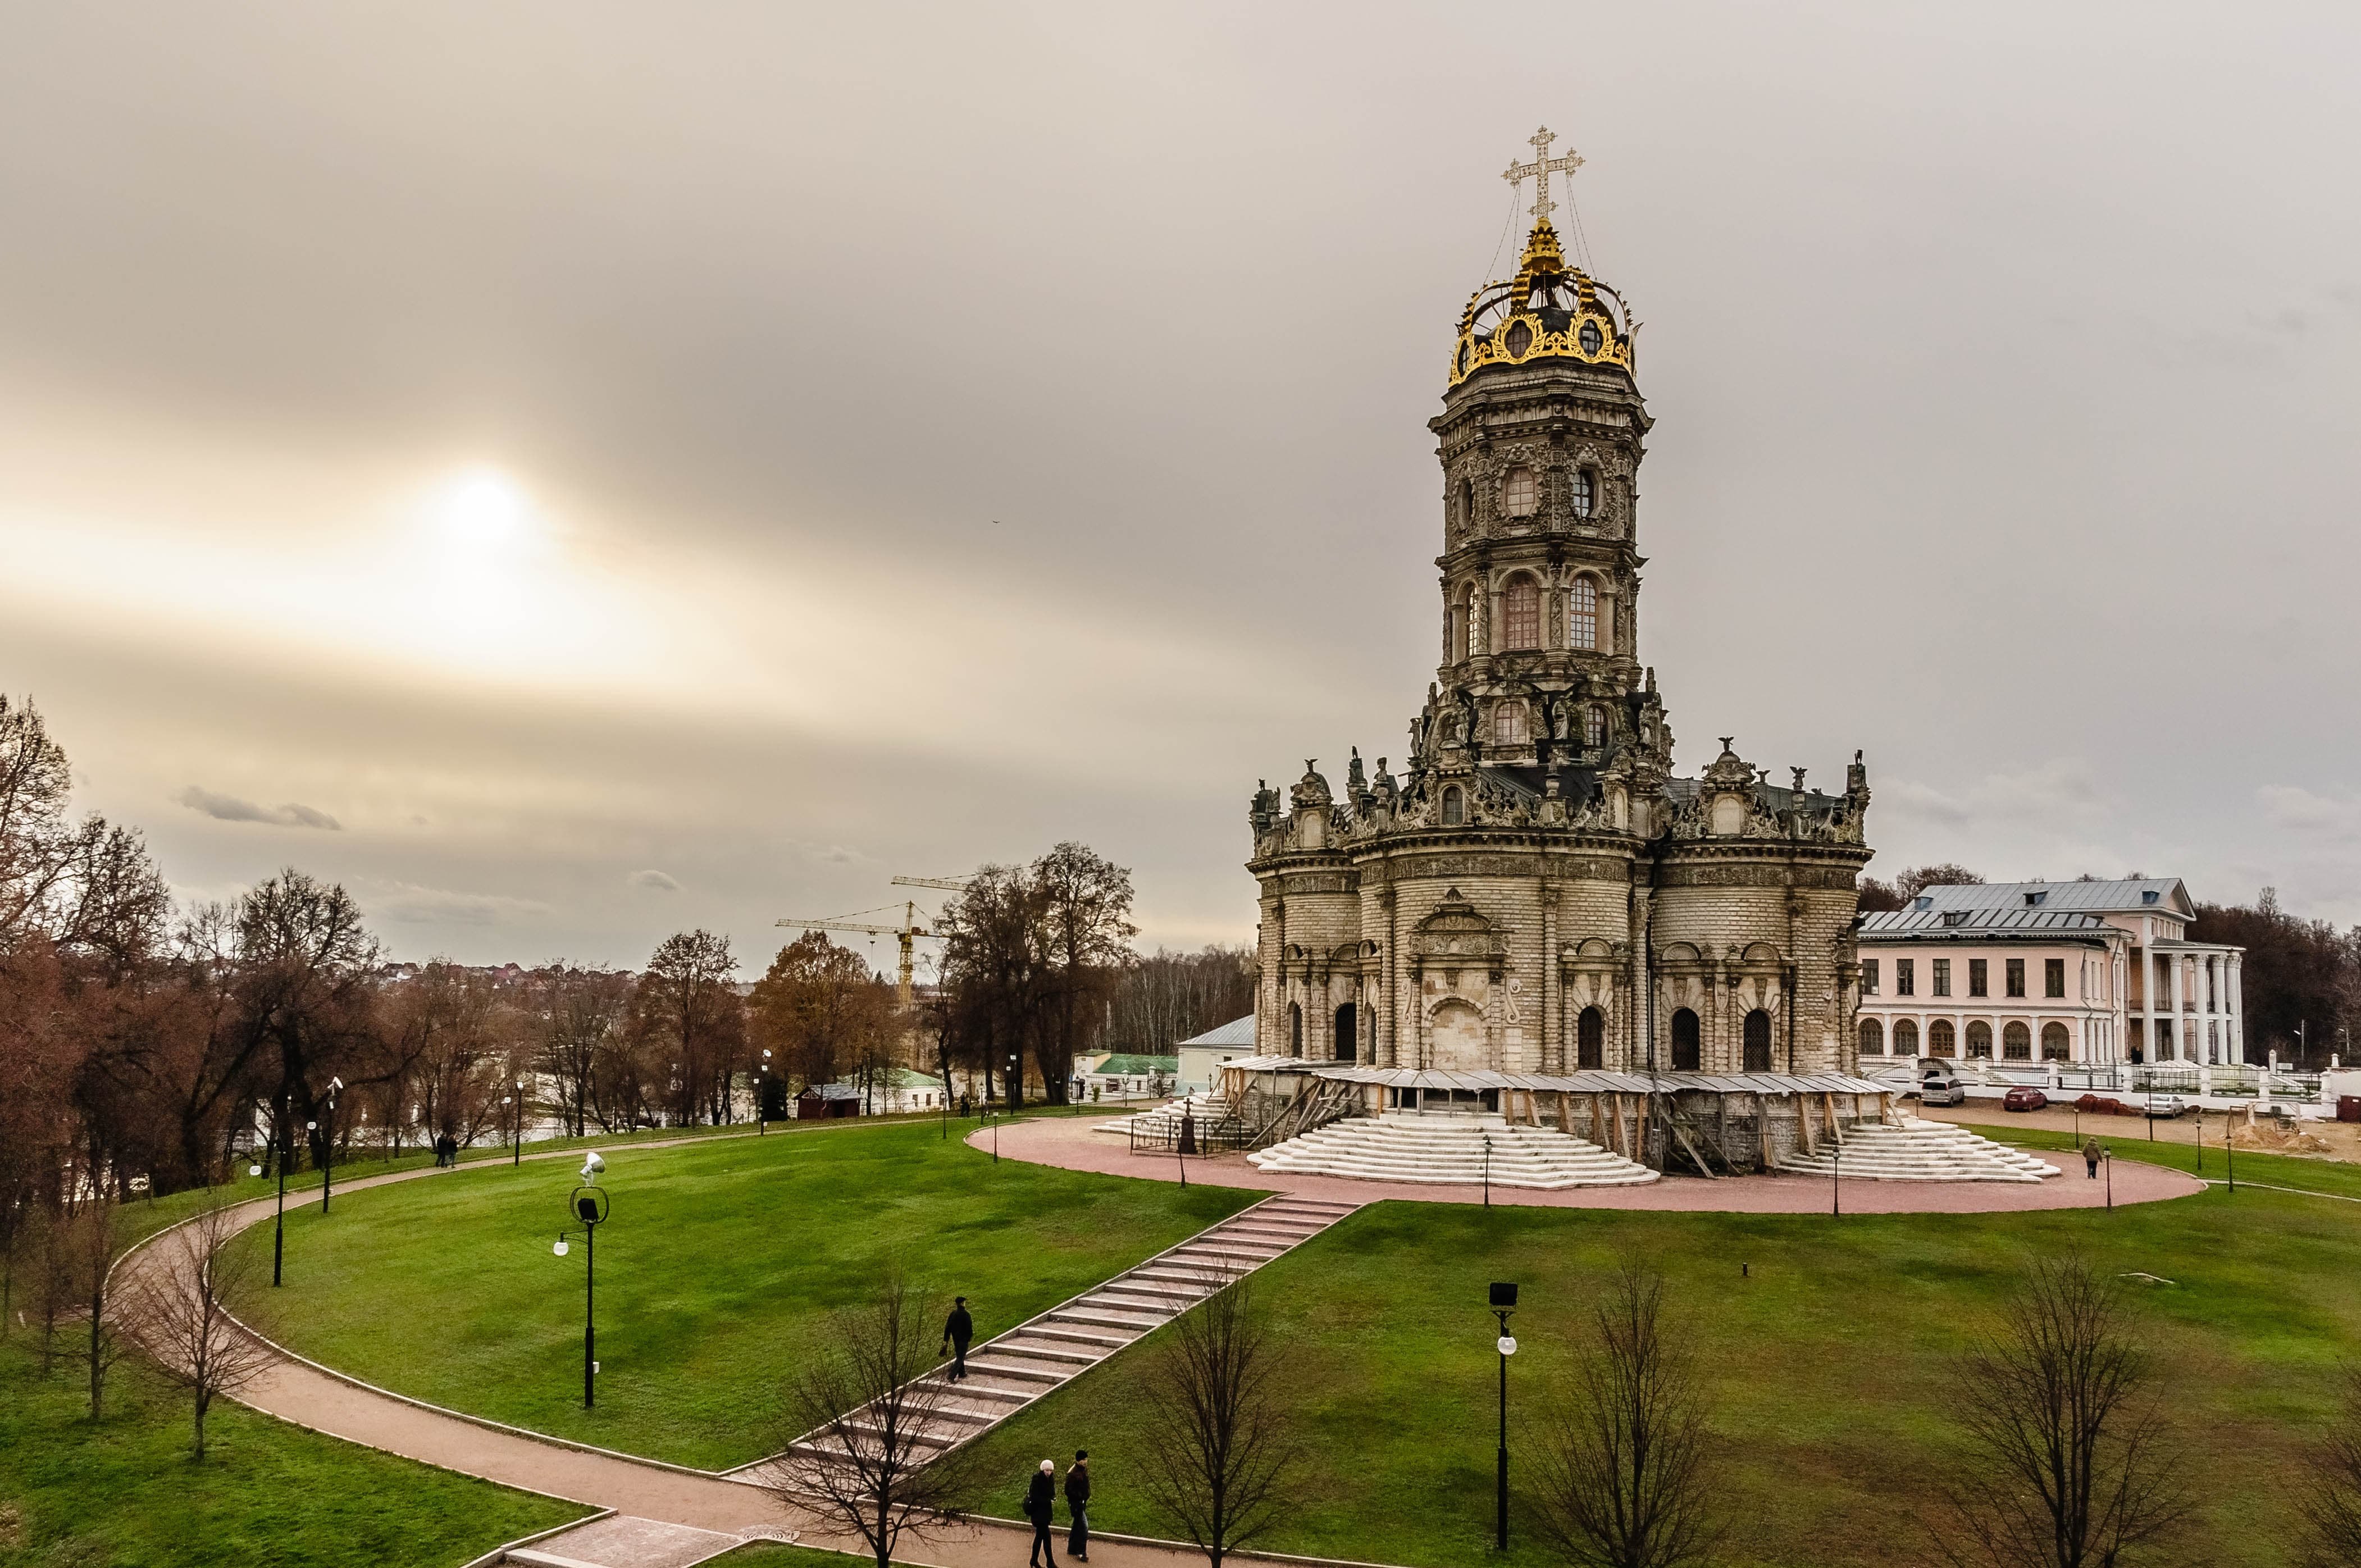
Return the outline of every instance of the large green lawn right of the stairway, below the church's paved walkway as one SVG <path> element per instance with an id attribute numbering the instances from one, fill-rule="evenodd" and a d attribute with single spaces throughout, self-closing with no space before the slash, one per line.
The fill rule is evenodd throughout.
<path id="1" fill-rule="evenodd" d="M 2134 1143 L 2120 1152 L 2149 1148 Z M 2156 1148 L 2165 1162 L 2193 1155 Z M 2208 1174 L 2217 1167 L 2212 1150 Z M 2028 1254 L 2082 1247 L 2104 1268 L 2172 1280 L 2146 1287 L 2139 1306 L 2198 1450 L 2203 1561 L 2281 1563 L 2276 1483 L 2330 1407 L 2333 1370 L 2361 1351 L 2361 1211 L 2245 1183 L 2342 1190 L 2361 1174 L 2241 1155 L 2238 1176 L 2236 1197 L 2208 1190 L 2113 1214 L 1832 1221 L 1376 1204 L 1258 1275 L 1289 1337 L 1313 1457 L 1301 1507 L 1263 1544 L 1431 1568 L 1490 1556 L 1499 1363 L 1485 1282 L 1523 1285 L 1511 1365 L 1511 1422 L 1523 1426 L 1549 1405 L 1617 1249 L 1639 1244 L 1669 1275 L 1700 1353 L 1735 1525 L 1728 1561 L 1922 1561 L 1915 1518 L 1957 1443 L 1950 1358 Z M 2080 1169 L 2064 1181 L 2082 1181 Z M 1006 1495 L 1044 1457 L 1062 1464 L 1088 1448 L 1093 1523 L 1169 1535 L 1131 1483 L 1147 1348 L 989 1433 L 985 1511 L 1006 1514 Z M 1511 1436 L 1516 1448 L 1530 1438 Z M 1518 1563 L 1549 1561 L 1530 1528 L 1516 1535 Z"/>

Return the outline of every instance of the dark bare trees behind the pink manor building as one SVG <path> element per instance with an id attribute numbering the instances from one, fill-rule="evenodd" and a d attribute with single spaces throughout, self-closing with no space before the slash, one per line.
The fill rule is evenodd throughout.
<path id="1" fill-rule="evenodd" d="M 1891 883 L 1863 876 L 1860 912 L 1905 909 L 1927 888 L 1981 881 L 1960 864 L 1912 867 Z M 2250 1060 L 2278 1051 L 2281 1063 L 2326 1067 L 2330 1053 L 2352 1056 L 2361 1032 L 2361 926 L 2337 930 L 2330 921 L 2288 914 L 2278 890 L 2264 888 L 2252 904 L 2200 902 L 2189 940 L 2245 949 L 2238 994 Z"/>

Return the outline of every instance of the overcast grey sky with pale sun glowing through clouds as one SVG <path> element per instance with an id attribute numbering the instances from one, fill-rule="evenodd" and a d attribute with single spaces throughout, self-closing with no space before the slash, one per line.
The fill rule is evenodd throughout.
<path id="1" fill-rule="evenodd" d="M 1072 836 L 1247 937 L 1254 782 L 1433 675 L 1546 123 L 1683 770 L 1860 746 L 1875 871 L 2361 921 L 2352 5 L 0 24 L 0 687 L 182 895 L 760 966 Z"/>

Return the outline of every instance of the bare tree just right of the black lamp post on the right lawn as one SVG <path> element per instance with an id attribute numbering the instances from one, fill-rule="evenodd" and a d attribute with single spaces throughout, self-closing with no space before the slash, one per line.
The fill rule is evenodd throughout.
<path id="1" fill-rule="evenodd" d="M 1591 1344 L 1546 1405 L 1530 1497 L 1542 1533 L 1575 1563 L 1705 1563 L 1709 1509 L 1705 1398 L 1665 1278 L 1627 1254 L 1591 1308 Z"/>

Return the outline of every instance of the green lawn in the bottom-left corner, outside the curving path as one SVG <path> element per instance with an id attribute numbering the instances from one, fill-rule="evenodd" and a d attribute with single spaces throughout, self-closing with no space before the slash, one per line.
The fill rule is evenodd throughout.
<path id="1" fill-rule="evenodd" d="M 191 1464 L 187 1400 L 130 1363 L 109 1405 L 92 1426 L 71 1367 L 0 1341 L 0 1568 L 451 1568 L 586 1514 L 236 1405 Z"/>

